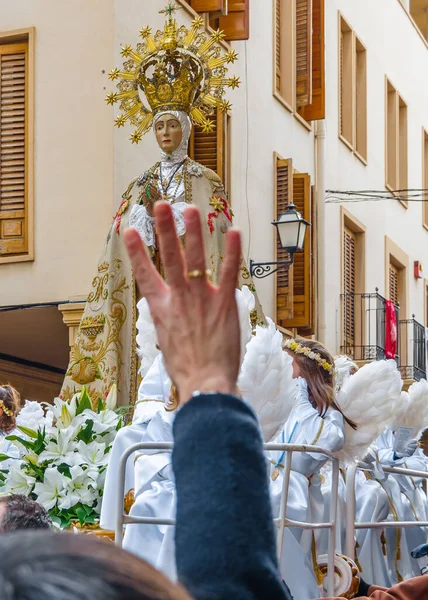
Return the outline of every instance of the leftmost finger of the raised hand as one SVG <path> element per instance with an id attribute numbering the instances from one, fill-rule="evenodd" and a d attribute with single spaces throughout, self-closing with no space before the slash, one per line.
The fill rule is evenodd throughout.
<path id="1" fill-rule="evenodd" d="M 150 296 L 158 295 L 165 291 L 166 286 L 156 271 L 141 237 L 135 229 L 126 229 L 123 241 L 131 260 L 135 280 L 142 296 L 149 299 Z"/>

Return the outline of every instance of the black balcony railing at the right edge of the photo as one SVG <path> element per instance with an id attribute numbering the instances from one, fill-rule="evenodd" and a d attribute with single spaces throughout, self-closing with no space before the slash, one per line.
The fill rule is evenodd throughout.
<path id="1" fill-rule="evenodd" d="M 415 315 L 399 322 L 400 372 L 403 379 L 419 381 L 426 377 L 425 327 Z"/>

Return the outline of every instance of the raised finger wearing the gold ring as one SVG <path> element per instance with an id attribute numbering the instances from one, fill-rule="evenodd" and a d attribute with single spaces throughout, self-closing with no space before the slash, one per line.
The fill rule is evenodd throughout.
<path id="1" fill-rule="evenodd" d="M 189 282 L 198 287 L 206 283 L 206 262 L 205 248 L 202 233 L 201 215 L 195 207 L 189 207 L 184 212 L 186 223 L 186 268 L 187 272 L 194 273 L 194 277 L 189 277 Z M 202 276 L 196 276 L 201 273 Z"/>

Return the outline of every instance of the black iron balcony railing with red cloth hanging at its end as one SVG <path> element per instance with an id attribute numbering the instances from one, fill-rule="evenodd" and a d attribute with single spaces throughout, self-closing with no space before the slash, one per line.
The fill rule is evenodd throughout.
<path id="1" fill-rule="evenodd" d="M 341 294 L 342 340 L 341 353 L 357 361 L 374 361 L 385 358 L 386 299 L 374 293 Z M 395 306 L 397 324 L 400 307 Z M 399 332 L 397 332 L 399 335 Z M 395 360 L 399 363 L 400 343 L 397 342 Z"/>

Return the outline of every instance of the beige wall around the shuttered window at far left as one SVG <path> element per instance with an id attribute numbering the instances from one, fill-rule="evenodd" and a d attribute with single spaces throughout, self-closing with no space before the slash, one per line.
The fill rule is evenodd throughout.
<path id="1" fill-rule="evenodd" d="M 113 0 L 0 0 L 0 15 L 36 29 L 35 260 L 0 264 L 0 305 L 86 295 L 113 215 Z"/>

